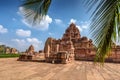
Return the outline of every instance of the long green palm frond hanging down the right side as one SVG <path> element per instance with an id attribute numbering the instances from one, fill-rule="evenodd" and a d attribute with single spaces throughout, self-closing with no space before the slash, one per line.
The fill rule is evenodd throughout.
<path id="1" fill-rule="evenodd" d="M 117 41 L 120 37 L 120 0 L 87 1 L 88 9 L 93 10 L 90 32 L 97 46 L 95 60 L 104 62 L 105 56 L 111 50 L 113 40 Z"/>

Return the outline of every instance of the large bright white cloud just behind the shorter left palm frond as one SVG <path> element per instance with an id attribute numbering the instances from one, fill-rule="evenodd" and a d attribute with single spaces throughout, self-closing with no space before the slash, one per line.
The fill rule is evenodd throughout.
<path id="1" fill-rule="evenodd" d="M 23 18 L 22 22 L 28 27 L 35 28 L 37 30 L 47 30 L 49 28 L 49 24 L 52 23 L 52 18 L 48 15 L 43 16 L 43 19 L 40 21 L 40 18 L 36 20 L 36 23 L 33 24 L 35 12 L 31 9 L 24 9 L 23 7 L 19 8 L 19 14 L 24 14 L 24 12 L 31 12 L 33 15 L 28 18 Z M 39 16 L 40 17 L 40 16 Z"/>

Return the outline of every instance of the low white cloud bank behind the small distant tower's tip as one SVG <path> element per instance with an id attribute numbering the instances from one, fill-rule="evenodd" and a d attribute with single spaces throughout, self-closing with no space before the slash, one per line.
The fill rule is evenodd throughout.
<path id="1" fill-rule="evenodd" d="M 42 41 L 37 38 L 12 39 L 11 41 L 13 41 L 12 45 L 20 51 L 25 51 L 30 45 L 34 46 L 35 51 L 39 51 L 44 47 Z"/>

